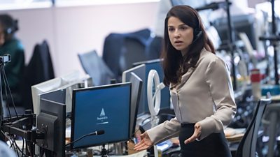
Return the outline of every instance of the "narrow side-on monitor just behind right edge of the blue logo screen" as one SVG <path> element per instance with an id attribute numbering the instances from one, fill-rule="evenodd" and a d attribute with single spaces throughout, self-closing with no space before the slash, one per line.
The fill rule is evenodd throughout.
<path id="1" fill-rule="evenodd" d="M 135 73 L 132 72 L 130 74 L 131 74 L 130 82 L 132 83 L 131 105 L 130 105 L 130 137 L 133 137 L 135 133 L 137 113 L 138 113 L 139 102 L 141 98 L 141 89 L 142 89 L 143 81 Z"/>

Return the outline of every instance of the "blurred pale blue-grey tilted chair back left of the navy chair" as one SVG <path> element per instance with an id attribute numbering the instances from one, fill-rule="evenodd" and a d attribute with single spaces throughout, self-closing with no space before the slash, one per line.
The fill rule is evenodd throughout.
<path id="1" fill-rule="evenodd" d="M 85 73 L 92 77 L 94 85 L 110 84 L 111 80 L 115 79 L 115 75 L 95 50 L 78 54 L 78 58 Z"/>

